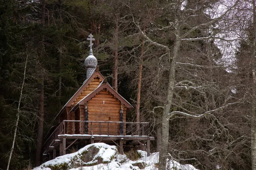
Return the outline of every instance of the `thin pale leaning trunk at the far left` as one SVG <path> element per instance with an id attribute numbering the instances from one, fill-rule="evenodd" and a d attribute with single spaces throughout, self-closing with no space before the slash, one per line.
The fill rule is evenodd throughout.
<path id="1" fill-rule="evenodd" d="M 15 122 L 14 137 L 13 137 L 13 141 L 12 141 L 12 148 L 11 148 L 11 151 L 10 151 L 10 156 L 9 156 L 9 160 L 8 160 L 6 170 L 9 170 L 9 167 L 10 167 L 10 163 L 11 163 L 11 159 L 12 159 L 12 152 L 14 150 L 14 145 L 15 145 L 16 136 L 17 136 L 17 129 L 18 129 L 18 124 L 19 124 L 19 120 L 20 120 L 20 102 L 21 102 L 21 98 L 22 98 L 23 87 L 24 87 L 24 82 L 25 82 L 25 77 L 26 77 L 27 61 L 28 61 L 28 54 L 27 54 L 27 51 L 26 51 L 26 62 L 25 62 L 25 68 L 24 68 L 23 82 L 22 82 L 21 90 L 20 90 L 20 99 L 19 99 L 18 108 L 17 108 L 17 119 L 16 119 L 16 122 Z"/>

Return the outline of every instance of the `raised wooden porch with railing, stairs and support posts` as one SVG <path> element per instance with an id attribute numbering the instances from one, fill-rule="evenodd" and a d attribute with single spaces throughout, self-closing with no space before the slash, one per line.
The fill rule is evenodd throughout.
<path id="1" fill-rule="evenodd" d="M 78 140 L 88 141 L 86 144 L 102 141 L 112 141 L 119 147 L 123 154 L 125 141 L 137 140 L 146 142 L 147 152 L 150 155 L 150 140 L 148 122 L 105 122 L 105 121 L 80 121 L 64 120 L 53 131 L 43 145 L 44 155 L 49 154 L 49 159 L 65 155 L 66 150 Z"/>

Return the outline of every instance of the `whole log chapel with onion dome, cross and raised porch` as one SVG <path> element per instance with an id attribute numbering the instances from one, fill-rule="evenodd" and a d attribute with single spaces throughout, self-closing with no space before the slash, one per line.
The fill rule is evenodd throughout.
<path id="1" fill-rule="evenodd" d="M 150 155 L 150 140 L 147 122 L 126 122 L 126 113 L 133 106 L 108 84 L 99 72 L 93 56 L 90 34 L 90 53 L 85 59 L 86 80 L 64 105 L 55 119 L 59 124 L 52 127 L 42 152 L 44 158 L 54 159 L 66 154 L 72 146 L 84 147 L 94 142 L 116 144 L 123 154 L 123 145 L 138 140 L 145 144 Z"/>

